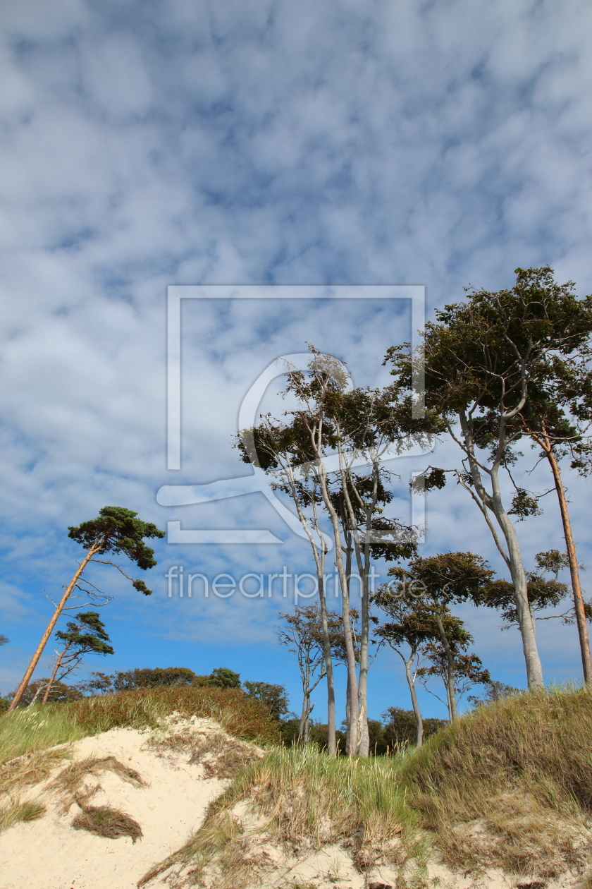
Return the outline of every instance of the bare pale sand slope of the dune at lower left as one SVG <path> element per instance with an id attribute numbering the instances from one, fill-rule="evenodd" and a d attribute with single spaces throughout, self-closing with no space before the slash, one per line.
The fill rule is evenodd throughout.
<path id="1" fill-rule="evenodd" d="M 193 725 L 218 727 L 205 719 Z M 91 780 L 102 788 L 91 805 L 122 809 L 138 821 L 144 836 L 132 844 L 130 837 L 107 839 L 75 830 L 71 824 L 78 806 L 64 814 L 55 797 L 43 794 L 47 813 L 42 818 L 16 824 L 0 836 L 0 889 L 135 889 L 146 870 L 184 845 L 228 782 L 204 779 L 201 765 L 188 764 L 186 750 L 159 755 L 148 749 L 148 737 L 114 729 L 72 745 L 75 758 L 113 756 L 148 782 L 134 787 L 110 772 Z M 47 783 L 26 796 L 39 797 Z"/>

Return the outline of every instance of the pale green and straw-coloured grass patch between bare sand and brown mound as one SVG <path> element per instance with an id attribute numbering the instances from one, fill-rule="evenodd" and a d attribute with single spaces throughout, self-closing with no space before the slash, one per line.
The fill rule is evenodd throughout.
<path id="1" fill-rule="evenodd" d="M 193 861 L 197 885 L 241 889 L 277 866 L 270 844 L 298 855 L 341 843 L 359 869 L 402 865 L 422 853 L 416 816 L 396 781 L 405 756 L 331 759 L 313 747 L 274 749 L 245 766 L 190 842 L 138 885 Z"/>

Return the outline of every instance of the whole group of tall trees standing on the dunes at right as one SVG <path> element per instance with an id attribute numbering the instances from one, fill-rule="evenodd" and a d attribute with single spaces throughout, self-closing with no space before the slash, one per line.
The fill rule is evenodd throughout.
<path id="1" fill-rule="evenodd" d="M 264 469 L 275 489 L 293 501 L 312 551 L 319 592 L 320 655 L 316 673 L 303 678 L 305 738 L 310 692 L 327 686 L 328 752 L 335 755 L 335 664 L 347 674 L 345 712 L 348 755 L 367 756 L 370 727 L 368 671 L 373 660 L 371 606 L 387 615 L 377 644 L 391 647 L 405 665 L 416 723 L 423 725 L 415 681 L 442 681 L 450 721 L 467 684 L 488 683 L 471 637 L 454 605 L 498 610 L 522 637 L 530 689 L 543 685 L 535 623 L 537 611 L 557 605 L 568 588 L 558 573 L 569 570 L 572 605 L 557 615 L 577 625 L 585 681 L 592 685 L 587 621 L 561 464 L 586 477 L 592 471 L 592 296 L 579 298 L 574 284 L 557 284 L 553 270 L 517 268 L 514 286 L 498 292 L 471 289 L 461 302 L 436 310 L 421 347 L 394 345 L 377 356 L 391 368 L 391 385 L 353 388 L 343 362 L 310 346 L 307 363 L 287 365 L 280 394 L 294 405 L 280 418 L 260 417 L 242 429 L 235 445 L 243 461 Z M 453 465 L 429 467 L 414 489 L 444 488 L 449 480 L 473 501 L 492 535 L 508 577 L 495 577 L 470 550 L 420 557 L 422 529 L 392 514 L 391 474 L 384 461 L 418 445 L 428 451 L 434 436 L 457 449 Z M 517 477 L 520 448 L 533 447 L 533 466 L 549 468 L 558 503 L 558 546 L 525 563 L 516 524 L 541 514 L 540 493 Z M 529 469 L 533 469 L 533 466 Z M 465 525 L 470 537 L 470 518 Z M 372 588 L 373 560 L 391 563 L 393 582 Z M 326 571 L 339 582 L 342 611 L 335 648 Z M 360 585 L 359 627 L 351 609 L 351 578 Z M 545 576 L 547 575 L 547 576 Z M 358 588 L 356 586 L 355 593 Z M 377 637 L 377 638 L 376 638 Z M 296 653 L 305 670 L 310 664 Z M 431 686 L 427 685 L 431 691 Z"/>

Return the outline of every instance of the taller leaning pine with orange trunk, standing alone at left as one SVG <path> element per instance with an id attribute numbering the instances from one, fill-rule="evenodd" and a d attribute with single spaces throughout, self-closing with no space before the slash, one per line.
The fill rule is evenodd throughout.
<path id="1" fill-rule="evenodd" d="M 83 589 L 88 592 L 88 583 L 83 581 L 83 572 L 87 565 L 91 562 L 98 563 L 99 565 L 112 565 L 131 581 L 132 586 L 138 589 L 139 592 L 144 593 L 145 596 L 150 596 L 152 593 L 152 590 L 146 587 L 144 581 L 132 581 L 130 576 L 119 565 L 108 559 L 99 558 L 99 556 L 105 556 L 107 553 L 114 553 L 115 556 L 127 556 L 131 562 L 134 562 L 143 571 L 156 565 L 154 549 L 146 546 L 144 538 L 162 538 L 165 536 L 165 533 L 159 531 L 156 525 L 141 521 L 137 518 L 137 515 L 138 513 L 132 512 L 131 509 L 124 509 L 119 506 L 106 506 L 99 510 L 97 518 L 83 522 L 77 527 L 71 526 L 68 528 L 67 536 L 71 540 L 76 541 L 76 543 L 80 543 L 83 549 L 86 549 L 86 556 L 83 557 L 82 562 L 78 565 L 74 577 L 68 583 L 64 595 L 59 600 L 58 605 L 56 605 L 51 620 L 41 637 L 39 645 L 36 647 L 36 652 L 31 658 L 18 689 L 14 693 L 10 706 L 11 710 L 19 705 L 20 698 L 27 688 L 28 681 L 33 675 L 39 658 L 43 654 L 43 649 L 51 636 L 51 631 L 55 627 L 59 615 L 66 608 L 67 600 L 73 590 Z"/>

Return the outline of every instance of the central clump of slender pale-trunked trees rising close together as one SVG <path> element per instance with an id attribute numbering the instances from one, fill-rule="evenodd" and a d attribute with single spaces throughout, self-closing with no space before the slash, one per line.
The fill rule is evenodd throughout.
<path id="1" fill-rule="evenodd" d="M 399 388 L 351 389 L 343 363 L 311 348 L 308 372 L 288 368 L 286 394 L 296 399 L 288 420 L 262 418 L 259 427 L 243 430 L 239 446 L 243 459 L 259 461 L 275 473 L 277 487 L 296 503 L 298 517 L 315 558 L 323 644 L 328 678 L 329 752 L 335 751 L 335 693 L 328 638 L 324 560 L 328 552 L 320 532 L 319 510 L 328 517 L 335 545 L 335 568 L 342 595 L 343 644 L 348 671 L 346 710 L 349 755 L 367 756 L 367 666 L 370 556 L 409 556 L 414 541 L 410 529 L 383 516 L 386 493 L 381 461 L 402 453 L 416 438 L 427 440 L 425 423 L 414 428 L 410 402 L 399 401 Z M 408 399 L 407 399 L 408 401 Z M 391 450 L 390 450 L 391 449 Z M 253 456 L 255 454 L 255 457 Z M 359 467 L 367 467 L 360 472 Z M 305 509 L 312 514 L 306 517 Z M 405 536 L 402 536 L 402 531 Z M 399 552 L 400 550 L 400 552 Z M 359 661 L 351 635 L 351 564 L 361 581 Z M 359 680 L 358 680 L 359 663 Z"/>

